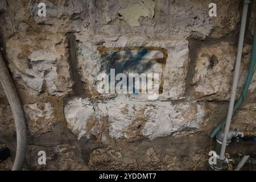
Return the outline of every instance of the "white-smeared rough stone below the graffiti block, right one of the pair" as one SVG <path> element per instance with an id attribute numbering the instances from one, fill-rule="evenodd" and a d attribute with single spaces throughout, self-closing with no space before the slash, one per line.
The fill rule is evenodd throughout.
<path id="1" fill-rule="evenodd" d="M 182 130 L 199 129 L 205 120 L 205 108 L 200 104 L 188 102 L 173 106 L 164 103 L 155 107 L 148 110 L 150 118 L 143 130 L 143 135 L 151 139 Z"/>

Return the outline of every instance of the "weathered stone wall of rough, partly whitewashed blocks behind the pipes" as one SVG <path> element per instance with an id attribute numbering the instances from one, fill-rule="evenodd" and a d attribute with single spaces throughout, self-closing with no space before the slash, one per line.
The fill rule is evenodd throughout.
<path id="1" fill-rule="evenodd" d="M 46 17 L 38 4 L 47 5 Z M 217 16 L 208 5 L 217 5 Z M 0 0 L 1 45 L 27 118 L 24 169 L 193 169 L 226 117 L 242 11 L 240 0 Z M 250 6 L 238 84 L 249 67 Z M 158 100 L 99 94 L 97 76 L 159 73 Z M 256 75 L 232 128 L 255 130 Z M 15 157 L 15 126 L 0 86 L 0 147 Z M 245 146 L 255 156 L 255 146 Z M 47 165 L 38 164 L 46 151 Z M 236 155 L 238 146 L 228 151 Z M 204 166 L 202 165 L 202 168 Z"/>

